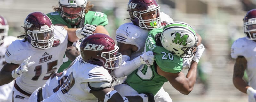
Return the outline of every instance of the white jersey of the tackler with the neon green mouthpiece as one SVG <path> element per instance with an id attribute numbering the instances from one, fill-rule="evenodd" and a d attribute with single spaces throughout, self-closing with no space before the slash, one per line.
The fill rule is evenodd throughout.
<path id="1" fill-rule="evenodd" d="M 173 22 L 167 14 L 160 12 L 161 15 L 161 26 L 167 25 Z M 139 26 L 133 25 L 132 22 L 121 25 L 116 30 L 116 40 L 119 43 L 135 45 L 138 50 L 130 56 L 130 60 L 140 56 L 143 52 L 145 41 L 148 37 L 149 30 L 140 28 Z"/>

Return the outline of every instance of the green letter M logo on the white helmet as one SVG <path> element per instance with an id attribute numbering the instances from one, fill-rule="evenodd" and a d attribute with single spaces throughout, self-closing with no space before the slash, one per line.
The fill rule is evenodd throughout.
<path id="1" fill-rule="evenodd" d="M 179 32 L 175 32 L 175 33 L 171 33 L 171 36 L 175 34 L 175 38 L 174 40 L 172 40 L 173 43 L 176 44 L 180 44 L 180 45 L 187 45 L 187 39 L 188 39 L 188 34 L 184 34 L 183 36 L 181 36 L 181 34 Z"/>

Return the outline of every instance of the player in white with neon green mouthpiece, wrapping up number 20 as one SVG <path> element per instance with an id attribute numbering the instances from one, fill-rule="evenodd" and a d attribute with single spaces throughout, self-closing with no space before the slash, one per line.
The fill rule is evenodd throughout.
<path id="1" fill-rule="evenodd" d="M 148 33 L 152 29 L 173 22 L 172 18 L 159 9 L 156 0 L 129 0 L 127 11 L 131 22 L 121 25 L 116 31 L 117 45 L 123 58 L 121 67 L 114 71 L 116 77 L 127 76 L 143 64 L 153 64 L 152 51 L 142 54 Z M 155 99 L 172 102 L 163 88 L 156 94 Z"/>

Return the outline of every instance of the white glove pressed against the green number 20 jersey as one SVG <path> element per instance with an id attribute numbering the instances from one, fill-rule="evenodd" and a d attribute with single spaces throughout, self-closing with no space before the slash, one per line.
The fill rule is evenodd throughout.
<path id="1" fill-rule="evenodd" d="M 136 57 L 134 63 L 136 66 L 140 67 L 141 64 L 146 64 L 148 66 L 153 65 L 155 61 L 154 55 L 152 51 L 147 51 L 146 53 Z"/>

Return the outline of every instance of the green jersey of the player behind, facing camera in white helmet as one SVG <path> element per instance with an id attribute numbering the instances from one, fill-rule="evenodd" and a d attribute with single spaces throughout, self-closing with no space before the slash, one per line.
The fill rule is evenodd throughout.
<path id="1" fill-rule="evenodd" d="M 51 12 L 46 14 L 52 21 L 52 24 L 63 24 L 68 26 L 68 28 L 72 28 L 70 24 L 68 24 L 62 17 L 61 13 L 58 12 Z M 101 12 L 95 12 L 95 11 L 88 11 L 84 16 L 84 24 L 90 24 L 90 25 L 102 25 L 105 26 L 108 24 L 107 15 Z M 81 20 L 82 21 L 82 20 Z M 79 24 L 80 25 L 80 24 Z M 79 25 L 76 25 L 75 28 L 79 28 Z M 62 72 L 64 69 L 68 68 L 68 66 L 71 64 L 71 61 L 64 55 L 63 57 L 63 64 L 60 66 L 58 72 Z"/>

